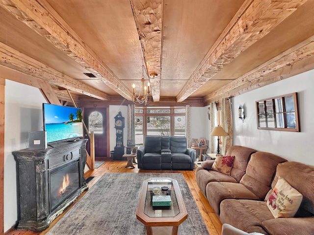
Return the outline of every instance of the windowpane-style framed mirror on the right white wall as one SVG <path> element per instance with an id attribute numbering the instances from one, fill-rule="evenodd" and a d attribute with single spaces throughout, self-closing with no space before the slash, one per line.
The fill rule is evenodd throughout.
<path id="1" fill-rule="evenodd" d="M 257 127 L 300 132 L 297 93 L 256 101 Z"/>

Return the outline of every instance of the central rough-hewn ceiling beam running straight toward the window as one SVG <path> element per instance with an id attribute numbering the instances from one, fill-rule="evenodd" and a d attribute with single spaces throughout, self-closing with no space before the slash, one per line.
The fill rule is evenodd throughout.
<path id="1" fill-rule="evenodd" d="M 160 98 L 163 1 L 131 0 L 130 2 L 142 45 L 146 71 L 150 77 L 152 96 L 157 102 Z"/>

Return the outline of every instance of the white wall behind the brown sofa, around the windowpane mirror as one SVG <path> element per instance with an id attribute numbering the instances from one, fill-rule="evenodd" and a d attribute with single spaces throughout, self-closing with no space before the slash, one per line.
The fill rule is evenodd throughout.
<path id="1" fill-rule="evenodd" d="M 307 71 L 232 98 L 233 144 L 270 152 L 288 161 L 314 165 L 313 77 L 314 70 Z M 301 132 L 258 130 L 255 101 L 294 92 L 298 93 Z M 237 118 L 239 104 L 244 106 L 244 123 Z"/>

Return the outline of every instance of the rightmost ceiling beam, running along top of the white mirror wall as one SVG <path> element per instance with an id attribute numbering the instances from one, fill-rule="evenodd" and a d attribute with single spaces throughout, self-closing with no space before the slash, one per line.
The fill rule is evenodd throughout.
<path id="1" fill-rule="evenodd" d="M 309 63 L 307 60 L 312 59 Z M 295 66 L 307 61 L 300 68 Z M 311 66 L 309 66 L 309 64 Z M 294 68 L 295 67 L 295 68 Z M 283 80 L 297 73 L 314 69 L 314 36 L 289 48 L 256 69 L 228 83 L 217 91 L 204 97 L 205 104 L 217 102 L 225 97 L 243 94 L 268 84 Z M 296 72 L 293 72 L 293 71 Z"/>

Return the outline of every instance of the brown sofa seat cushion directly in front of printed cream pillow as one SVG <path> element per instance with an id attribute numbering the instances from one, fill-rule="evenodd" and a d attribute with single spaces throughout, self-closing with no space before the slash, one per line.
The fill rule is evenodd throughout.
<path id="1" fill-rule="evenodd" d="M 273 218 L 264 201 L 226 199 L 220 203 L 221 223 L 231 224 L 247 233 L 258 232 L 267 235 L 262 222 Z"/>

